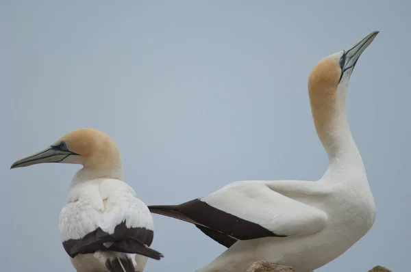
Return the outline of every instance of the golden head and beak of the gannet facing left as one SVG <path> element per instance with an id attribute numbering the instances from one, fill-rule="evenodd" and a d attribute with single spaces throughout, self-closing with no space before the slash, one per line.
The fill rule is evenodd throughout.
<path id="1" fill-rule="evenodd" d="M 121 156 L 114 141 L 93 128 L 66 133 L 51 146 L 13 163 L 11 168 L 38 163 L 75 163 L 84 168 L 121 168 Z"/>

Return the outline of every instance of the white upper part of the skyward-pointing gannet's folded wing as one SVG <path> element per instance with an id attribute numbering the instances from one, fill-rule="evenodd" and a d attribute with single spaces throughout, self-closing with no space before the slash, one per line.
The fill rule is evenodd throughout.
<path id="1" fill-rule="evenodd" d="M 312 187 L 312 182 L 286 181 L 286 191 L 282 194 L 276 191 L 278 182 L 281 184 L 282 181 L 233 182 L 201 198 L 201 201 L 282 236 L 314 234 L 323 230 L 327 214 L 321 208 L 300 202 L 297 196 L 298 193 L 311 193 L 321 197 L 325 195 L 323 187 L 316 190 L 315 185 L 318 185 Z M 305 187 L 304 191 L 301 187 Z M 295 198 L 290 198 L 290 195 Z"/>

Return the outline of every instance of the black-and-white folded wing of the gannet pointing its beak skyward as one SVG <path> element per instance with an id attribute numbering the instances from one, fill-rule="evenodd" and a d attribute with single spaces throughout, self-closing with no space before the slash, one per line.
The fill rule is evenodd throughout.
<path id="1" fill-rule="evenodd" d="M 308 235 L 325 227 L 323 210 L 273 188 L 264 181 L 233 182 L 203 198 L 174 206 L 149 206 L 149 210 L 194 223 L 226 247 L 238 240 Z"/>

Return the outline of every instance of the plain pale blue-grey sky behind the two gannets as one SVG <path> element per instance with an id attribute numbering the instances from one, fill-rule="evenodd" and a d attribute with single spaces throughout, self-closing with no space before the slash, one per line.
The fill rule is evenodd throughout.
<path id="1" fill-rule="evenodd" d="M 119 145 L 146 204 L 236 180 L 320 178 L 327 167 L 307 77 L 322 57 L 380 33 L 353 71 L 351 132 L 377 219 L 317 271 L 406 271 L 410 255 L 409 1 L 1 1 L 0 198 L 4 271 L 73 271 L 58 214 L 78 165 L 9 170 L 64 133 Z M 194 271 L 224 247 L 154 215 L 146 271 Z"/>

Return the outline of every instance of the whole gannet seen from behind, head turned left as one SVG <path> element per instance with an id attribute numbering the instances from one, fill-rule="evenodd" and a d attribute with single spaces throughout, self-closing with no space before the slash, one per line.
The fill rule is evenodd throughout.
<path id="1" fill-rule="evenodd" d="M 149 248 L 151 213 L 123 182 L 120 152 L 108 135 L 91 128 L 71 131 L 11 168 L 38 163 L 83 165 L 59 218 L 61 241 L 77 272 L 143 271 L 147 257 L 162 258 Z"/>

